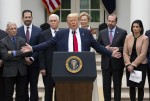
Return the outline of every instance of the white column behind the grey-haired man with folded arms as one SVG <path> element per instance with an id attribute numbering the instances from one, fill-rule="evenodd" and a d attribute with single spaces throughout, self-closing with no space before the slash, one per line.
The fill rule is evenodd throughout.
<path id="1" fill-rule="evenodd" d="M 0 0 L 0 29 L 5 30 L 7 22 L 21 25 L 21 0 Z"/>

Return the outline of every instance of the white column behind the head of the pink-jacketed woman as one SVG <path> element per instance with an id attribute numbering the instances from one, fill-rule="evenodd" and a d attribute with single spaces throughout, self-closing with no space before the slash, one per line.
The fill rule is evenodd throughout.
<path id="1" fill-rule="evenodd" d="M 144 25 L 144 31 L 150 29 L 150 0 L 130 0 L 131 14 L 130 26 L 136 19 L 140 19 Z"/>

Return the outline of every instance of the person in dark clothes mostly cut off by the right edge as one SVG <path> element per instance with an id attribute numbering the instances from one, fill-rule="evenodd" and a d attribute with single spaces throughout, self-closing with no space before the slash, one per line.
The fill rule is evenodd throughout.
<path id="1" fill-rule="evenodd" d="M 147 30 L 146 33 L 145 33 L 146 36 L 149 37 L 149 42 L 150 42 L 150 30 Z M 150 44 L 149 44 L 149 47 L 148 47 L 148 69 L 147 69 L 147 76 L 148 76 L 148 85 L 149 85 L 149 99 L 150 99 Z"/>

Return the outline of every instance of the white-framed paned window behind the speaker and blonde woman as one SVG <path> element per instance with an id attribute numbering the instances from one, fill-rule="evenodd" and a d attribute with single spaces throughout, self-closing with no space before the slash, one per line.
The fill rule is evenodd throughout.
<path id="1" fill-rule="evenodd" d="M 103 8 L 100 0 L 60 0 L 61 8 L 55 13 L 60 17 L 60 28 L 67 28 L 67 15 L 71 12 L 87 12 L 91 16 L 90 25 L 98 28 L 100 22 L 103 22 Z"/>

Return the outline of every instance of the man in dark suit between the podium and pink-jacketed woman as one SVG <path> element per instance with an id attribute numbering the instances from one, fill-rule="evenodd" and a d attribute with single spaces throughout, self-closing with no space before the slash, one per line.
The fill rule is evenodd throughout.
<path id="1" fill-rule="evenodd" d="M 101 45 L 110 51 L 119 50 L 123 53 L 124 40 L 127 32 L 116 26 L 115 14 L 108 16 L 108 28 L 100 31 L 98 40 Z M 102 55 L 101 60 L 104 101 L 111 101 L 111 81 L 113 79 L 114 101 L 121 101 L 121 85 L 124 70 L 123 56 L 119 59 Z"/>

